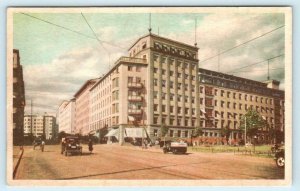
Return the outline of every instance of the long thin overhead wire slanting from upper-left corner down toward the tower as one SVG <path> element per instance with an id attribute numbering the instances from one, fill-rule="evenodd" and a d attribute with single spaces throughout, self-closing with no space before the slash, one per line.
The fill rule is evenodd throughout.
<path id="1" fill-rule="evenodd" d="M 55 24 L 55 23 L 50 22 L 50 21 L 47 21 L 47 20 L 45 20 L 45 19 L 41 19 L 41 18 L 39 18 L 39 17 L 35 17 L 35 16 L 30 15 L 30 14 L 27 14 L 27 13 L 21 13 L 21 14 L 23 14 L 23 15 L 25 15 L 25 16 L 28 16 L 28 17 L 31 17 L 31 18 L 33 18 L 33 19 L 39 20 L 39 21 L 41 21 L 41 22 L 44 22 L 44 23 L 47 23 L 47 24 L 56 26 L 56 27 L 58 27 L 58 28 L 62 28 L 62 29 L 67 30 L 67 31 L 69 31 L 69 32 L 76 33 L 76 34 L 78 34 L 78 35 L 80 35 L 80 36 L 83 36 L 83 37 L 86 37 L 86 38 L 94 39 L 94 40 L 96 39 L 96 38 L 93 37 L 93 36 L 90 36 L 90 35 L 87 35 L 87 34 L 84 34 L 84 33 L 78 32 L 78 31 L 75 31 L 75 30 L 73 30 L 73 29 L 64 27 L 64 26 L 62 26 L 62 25 Z M 97 39 L 96 39 L 96 40 L 97 40 Z M 119 46 L 119 45 L 116 45 L 116 44 L 114 44 L 114 43 L 112 43 L 112 42 L 103 41 L 103 40 L 100 40 L 100 41 L 101 41 L 102 43 L 108 44 L 108 45 L 113 46 L 113 47 L 117 47 L 117 48 L 122 49 L 122 50 L 126 49 L 126 48 L 121 47 L 121 46 Z"/>

